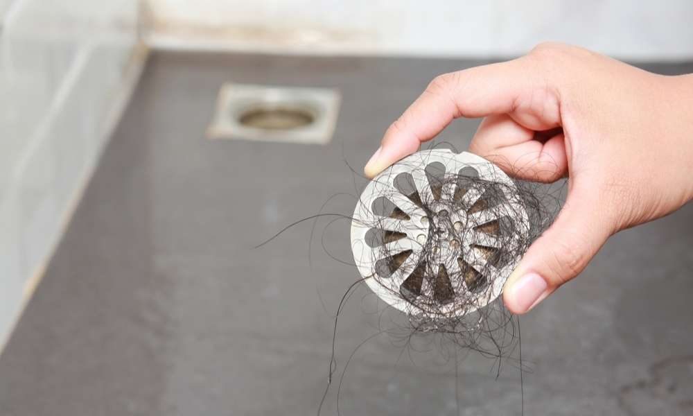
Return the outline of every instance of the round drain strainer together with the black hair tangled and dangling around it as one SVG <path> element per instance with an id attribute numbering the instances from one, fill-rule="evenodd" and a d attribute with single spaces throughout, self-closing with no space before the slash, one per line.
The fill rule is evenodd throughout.
<path id="1" fill-rule="evenodd" d="M 387 334 L 402 352 L 421 352 L 423 343 L 425 351 L 435 349 L 444 358 L 454 357 L 455 363 L 460 351 L 478 352 L 497 359 L 500 374 L 500 361 L 516 350 L 520 331 L 519 320 L 499 295 L 529 245 L 553 222 L 562 194 L 563 184 L 512 180 L 491 162 L 469 153 L 423 150 L 387 168 L 354 196 L 353 216 L 324 213 L 328 200 L 317 214 L 261 243 L 306 220 L 315 220 L 315 229 L 319 218 L 335 217 L 324 232 L 337 220 L 351 222 L 353 263 L 333 256 L 323 245 L 333 259 L 356 266 L 361 278 L 349 286 L 336 309 L 328 381 L 318 415 L 337 369 L 340 313 L 361 283 L 392 306 L 376 311 L 380 317 L 374 336 Z M 521 347 L 519 364 L 521 370 Z"/>

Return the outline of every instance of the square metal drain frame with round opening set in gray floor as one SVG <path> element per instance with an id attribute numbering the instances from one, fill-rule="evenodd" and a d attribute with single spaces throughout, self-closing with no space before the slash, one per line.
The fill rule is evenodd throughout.
<path id="1" fill-rule="evenodd" d="M 222 85 L 209 139 L 327 144 L 337 123 L 336 89 Z"/>

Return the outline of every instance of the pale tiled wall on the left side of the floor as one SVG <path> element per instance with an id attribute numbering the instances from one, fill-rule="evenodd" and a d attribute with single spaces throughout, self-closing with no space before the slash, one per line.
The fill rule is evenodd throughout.
<path id="1" fill-rule="evenodd" d="M 136 79 L 138 4 L 0 3 L 0 347 Z"/>

